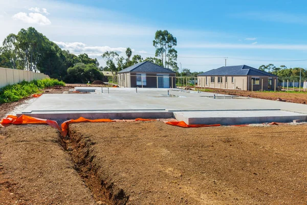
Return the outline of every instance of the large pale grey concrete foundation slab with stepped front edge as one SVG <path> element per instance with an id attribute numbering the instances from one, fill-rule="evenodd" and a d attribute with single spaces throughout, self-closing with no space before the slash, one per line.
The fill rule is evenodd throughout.
<path id="1" fill-rule="evenodd" d="M 174 115 L 188 124 L 227 124 L 226 118 L 233 118 L 230 121 L 235 124 L 293 119 L 305 121 L 304 116 L 307 116 L 307 105 L 281 101 L 246 97 L 231 99 L 230 95 L 217 95 L 219 97 L 213 99 L 202 96 L 213 96 L 214 93 L 188 93 L 179 89 L 138 88 L 136 91 L 135 88 L 109 88 L 109 93 L 105 91 L 100 94 L 43 94 L 17 115 L 47 119 L 75 119 L 80 116 L 91 119 L 169 118 Z M 209 119 L 212 119 L 211 122 Z"/>

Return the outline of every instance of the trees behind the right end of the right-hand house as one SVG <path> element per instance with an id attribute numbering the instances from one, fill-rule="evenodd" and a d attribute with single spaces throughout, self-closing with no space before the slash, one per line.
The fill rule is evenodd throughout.
<path id="1" fill-rule="evenodd" d="M 299 81 L 300 75 L 301 80 L 307 80 L 307 71 L 303 68 L 287 68 L 287 66 L 276 67 L 273 64 L 261 65 L 259 70 L 266 71 L 278 76 L 279 81 L 289 80 L 289 81 Z"/>

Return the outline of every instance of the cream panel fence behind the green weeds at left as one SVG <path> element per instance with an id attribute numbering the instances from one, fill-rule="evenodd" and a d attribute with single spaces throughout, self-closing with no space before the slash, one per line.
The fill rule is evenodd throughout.
<path id="1" fill-rule="evenodd" d="M 43 78 L 49 78 L 49 76 L 43 73 L 34 73 L 32 71 L 0 68 L 0 88 L 20 83 L 23 80 L 31 81 Z"/>

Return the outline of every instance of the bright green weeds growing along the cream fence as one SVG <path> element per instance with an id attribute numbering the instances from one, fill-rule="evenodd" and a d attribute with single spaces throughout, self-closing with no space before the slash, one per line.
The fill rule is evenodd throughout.
<path id="1" fill-rule="evenodd" d="M 53 86 L 65 86 L 65 83 L 57 79 L 45 78 L 30 82 L 23 80 L 18 84 L 5 86 L 0 89 L 0 104 L 18 101 L 33 93 L 39 92 L 39 89 Z"/>

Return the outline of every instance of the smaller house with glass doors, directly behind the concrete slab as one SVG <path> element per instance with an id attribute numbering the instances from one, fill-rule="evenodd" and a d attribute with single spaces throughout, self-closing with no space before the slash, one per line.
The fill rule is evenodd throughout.
<path id="1" fill-rule="evenodd" d="M 176 88 L 176 72 L 149 61 L 125 68 L 117 77 L 124 88 Z"/>

